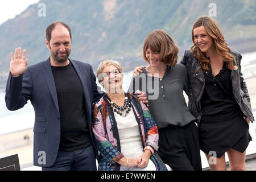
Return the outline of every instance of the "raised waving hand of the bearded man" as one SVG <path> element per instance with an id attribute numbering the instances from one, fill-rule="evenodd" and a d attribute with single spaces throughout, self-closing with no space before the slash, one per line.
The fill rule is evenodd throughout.
<path id="1" fill-rule="evenodd" d="M 11 52 L 11 62 L 10 62 L 10 72 L 11 76 L 18 77 L 22 75 L 27 70 L 27 59 L 26 58 L 26 50 L 23 50 L 19 47 L 19 49 L 15 49 L 14 57 L 13 52 Z"/>

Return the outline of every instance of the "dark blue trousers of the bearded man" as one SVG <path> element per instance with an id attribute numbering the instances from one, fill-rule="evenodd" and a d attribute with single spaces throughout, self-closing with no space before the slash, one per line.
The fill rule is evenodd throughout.
<path id="1" fill-rule="evenodd" d="M 59 151 L 53 166 L 42 168 L 42 171 L 96 170 L 96 158 L 92 146 L 77 151 Z"/>

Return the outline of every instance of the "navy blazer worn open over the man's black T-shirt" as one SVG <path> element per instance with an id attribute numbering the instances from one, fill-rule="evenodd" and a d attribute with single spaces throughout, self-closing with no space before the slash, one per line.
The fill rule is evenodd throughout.
<path id="1" fill-rule="evenodd" d="M 102 97 L 98 92 L 92 66 L 81 61 L 71 60 L 82 87 L 84 88 L 85 108 L 88 128 L 92 138 L 92 104 Z M 99 89 L 100 90 L 100 89 Z M 56 86 L 53 79 L 50 59 L 31 65 L 19 77 L 9 74 L 6 85 L 5 102 L 9 110 L 18 110 L 31 101 L 35 110 L 34 124 L 34 166 L 50 167 L 55 163 L 60 144 L 60 112 Z M 95 143 L 93 148 L 98 155 Z"/>

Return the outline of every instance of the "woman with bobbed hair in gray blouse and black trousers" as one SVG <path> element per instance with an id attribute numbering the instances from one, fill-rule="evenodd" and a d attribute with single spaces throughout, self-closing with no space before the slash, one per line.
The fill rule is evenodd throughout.
<path id="1" fill-rule="evenodd" d="M 179 48 L 164 30 L 147 35 L 143 59 L 147 67 L 133 77 L 129 92 L 148 95 L 148 109 L 159 130 L 159 155 L 172 170 L 200 171 L 199 135 L 183 90 L 188 94 L 187 69 L 177 63 Z M 136 72 L 136 71 L 135 71 Z"/>

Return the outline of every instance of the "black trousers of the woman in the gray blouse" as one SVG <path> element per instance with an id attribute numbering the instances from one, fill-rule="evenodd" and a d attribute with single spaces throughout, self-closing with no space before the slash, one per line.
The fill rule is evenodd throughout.
<path id="1" fill-rule="evenodd" d="M 173 171 L 201 171 L 199 134 L 195 122 L 159 130 L 158 154 Z"/>

